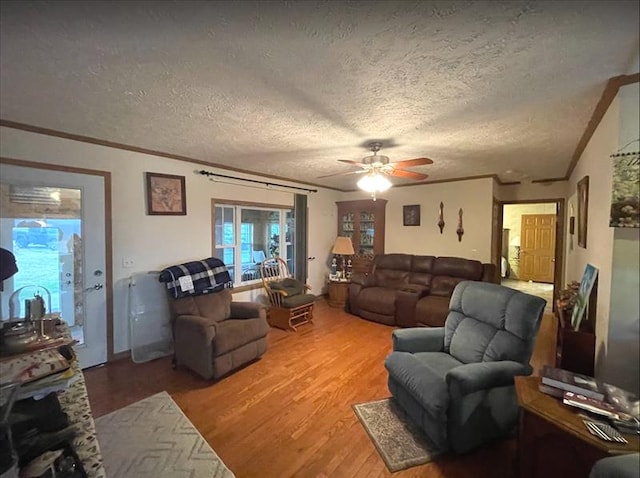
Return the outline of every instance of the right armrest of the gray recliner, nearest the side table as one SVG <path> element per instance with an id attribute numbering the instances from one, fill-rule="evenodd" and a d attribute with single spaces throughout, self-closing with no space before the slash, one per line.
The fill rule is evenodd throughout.
<path id="1" fill-rule="evenodd" d="M 450 395 L 463 396 L 479 390 L 513 385 L 514 377 L 531 375 L 531 372 L 533 369 L 529 364 L 511 360 L 476 362 L 452 368 L 445 379 Z"/>

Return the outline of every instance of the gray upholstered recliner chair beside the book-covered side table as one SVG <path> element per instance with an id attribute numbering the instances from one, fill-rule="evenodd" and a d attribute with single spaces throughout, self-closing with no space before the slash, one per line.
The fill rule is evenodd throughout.
<path id="1" fill-rule="evenodd" d="M 444 327 L 394 330 L 389 390 L 438 451 L 469 451 L 509 435 L 514 377 L 530 375 L 546 301 L 485 282 L 459 283 Z"/>

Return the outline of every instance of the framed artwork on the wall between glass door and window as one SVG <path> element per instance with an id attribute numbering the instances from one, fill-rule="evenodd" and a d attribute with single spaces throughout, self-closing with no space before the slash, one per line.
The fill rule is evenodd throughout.
<path id="1" fill-rule="evenodd" d="M 146 173 L 147 214 L 158 216 L 184 216 L 187 197 L 184 176 Z"/>

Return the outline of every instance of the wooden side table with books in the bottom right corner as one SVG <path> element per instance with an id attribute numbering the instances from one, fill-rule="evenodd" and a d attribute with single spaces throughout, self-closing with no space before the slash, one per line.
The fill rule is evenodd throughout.
<path id="1" fill-rule="evenodd" d="M 587 478 L 597 460 L 640 449 L 637 435 L 625 434 L 626 445 L 591 435 L 577 409 L 538 390 L 540 380 L 515 378 L 520 406 L 519 478 Z"/>

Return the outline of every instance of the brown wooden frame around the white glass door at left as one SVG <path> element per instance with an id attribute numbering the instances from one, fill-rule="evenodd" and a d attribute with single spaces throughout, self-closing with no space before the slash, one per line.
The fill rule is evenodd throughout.
<path id="1" fill-rule="evenodd" d="M 78 168 L 75 166 L 63 166 L 59 164 L 27 161 L 23 159 L 7 158 L 0 156 L 0 163 L 25 168 L 43 169 L 48 171 L 62 171 L 66 173 L 86 174 L 101 176 L 104 180 L 104 244 L 105 244 L 105 293 L 107 316 L 107 362 L 112 362 L 117 357 L 113 353 L 113 253 L 112 253 L 112 226 L 111 226 L 111 173 L 98 169 Z"/>

